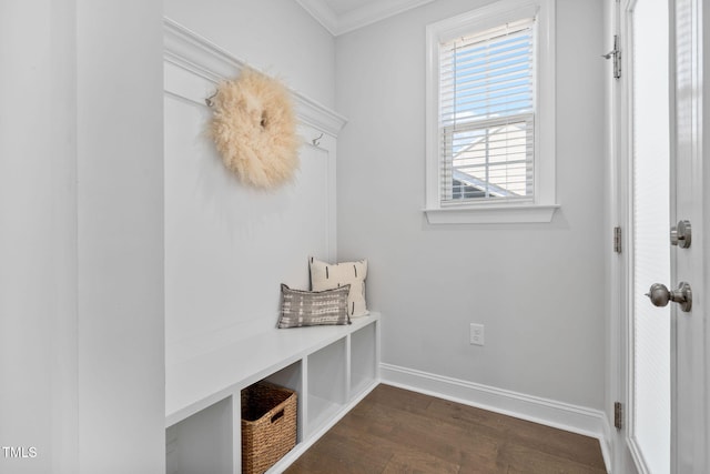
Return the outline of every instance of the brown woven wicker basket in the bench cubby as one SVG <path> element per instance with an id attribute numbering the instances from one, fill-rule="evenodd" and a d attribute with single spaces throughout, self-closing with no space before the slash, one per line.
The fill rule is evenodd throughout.
<path id="1" fill-rule="evenodd" d="M 242 391 L 242 473 L 262 474 L 296 445 L 296 392 L 257 382 Z"/>

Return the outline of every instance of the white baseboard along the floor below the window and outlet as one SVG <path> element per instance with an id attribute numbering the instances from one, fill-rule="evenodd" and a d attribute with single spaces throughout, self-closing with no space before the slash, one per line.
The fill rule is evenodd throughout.
<path id="1" fill-rule="evenodd" d="M 605 413 L 600 410 L 526 395 L 398 365 L 382 363 L 379 364 L 379 372 L 382 383 L 387 385 L 596 437 L 599 440 L 607 472 L 611 472 L 609 463 L 610 426 Z"/>

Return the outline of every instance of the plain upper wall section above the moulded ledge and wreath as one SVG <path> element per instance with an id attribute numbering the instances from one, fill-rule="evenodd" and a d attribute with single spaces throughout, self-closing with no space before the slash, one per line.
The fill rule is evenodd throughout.
<path id="1" fill-rule="evenodd" d="M 164 0 L 165 17 L 333 108 L 335 41 L 294 0 Z"/>

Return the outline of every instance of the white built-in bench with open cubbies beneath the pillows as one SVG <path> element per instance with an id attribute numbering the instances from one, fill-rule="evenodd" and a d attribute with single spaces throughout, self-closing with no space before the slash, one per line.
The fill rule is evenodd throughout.
<path id="1" fill-rule="evenodd" d="M 267 471 L 282 472 L 379 383 L 378 366 L 378 313 L 274 329 L 169 365 L 168 474 L 241 473 L 241 391 L 258 381 L 297 394 L 296 446 Z"/>

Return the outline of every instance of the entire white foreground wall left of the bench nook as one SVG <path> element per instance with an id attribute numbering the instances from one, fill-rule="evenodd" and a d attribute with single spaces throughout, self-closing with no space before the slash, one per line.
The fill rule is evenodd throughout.
<path id="1" fill-rule="evenodd" d="M 0 3 L 2 473 L 164 471 L 161 20 Z"/>

